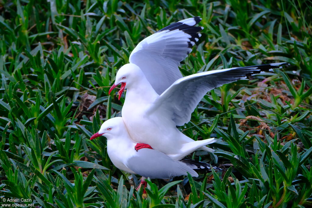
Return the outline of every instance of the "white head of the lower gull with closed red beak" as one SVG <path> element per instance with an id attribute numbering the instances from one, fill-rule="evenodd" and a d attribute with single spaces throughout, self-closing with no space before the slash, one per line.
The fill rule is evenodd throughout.
<path id="1" fill-rule="evenodd" d="M 108 119 L 101 125 L 100 131 L 91 136 L 90 140 L 100 137 L 102 135 L 105 136 L 107 139 L 114 138 L 122 134 L 125 129 L 126 127 L 124 125 L 124 120 L 121 117 Z"/>

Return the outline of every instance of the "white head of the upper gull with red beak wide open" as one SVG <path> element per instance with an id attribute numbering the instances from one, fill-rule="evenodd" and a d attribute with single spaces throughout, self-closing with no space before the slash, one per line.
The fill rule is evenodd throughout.
<path id="1" fill-rule="evenodd" d="M 123 65 L 116 74 L 115 83 L 110 87 L 110 92 L 121 84 L 120 90 L 118 92 L 119 96 L 118 99 L 121 98 L 124 89 L 131 87 L 131 85 L 135 84 L 135 81 L 138 80 L 140 76 L 144 76 L 143 72 L 141 71 L 140 67 L 135 64 L 125 64 Z"/>

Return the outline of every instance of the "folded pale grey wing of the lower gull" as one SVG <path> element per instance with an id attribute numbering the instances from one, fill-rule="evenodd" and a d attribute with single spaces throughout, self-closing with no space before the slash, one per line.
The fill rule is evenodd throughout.
<path id="1" fill-rule="evenodd" d="M 154 149 L 143 148 L 129 158 L 127 167 L 133 172 L 150 178 L 169 179 L 175 176 L 187 175 L 198 177 L 198 174 L 187 164 L 181 161 L 174 161 L 166 154 Z"/>

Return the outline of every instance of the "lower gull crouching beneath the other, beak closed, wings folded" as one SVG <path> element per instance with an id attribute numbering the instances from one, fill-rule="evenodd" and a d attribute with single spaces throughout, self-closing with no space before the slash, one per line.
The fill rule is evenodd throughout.
<path id="1" fill-rule="evenodd" d="M 175 176 L 187 175 L 187 172 L 192 177 L 198 176 L 192 168 L 200 168 L 189 163 L 188 160 L 185 162 L 174 161 L 166 154 L 154 149 L 143 148 L 135 151 L 136 142 L 130 138 L 121 117 L 105 121 L 95 135 L 93 138 L 101 135 L 107 138 L 108 156 L 120 170 L 150 178 L 169 179 Z"/>

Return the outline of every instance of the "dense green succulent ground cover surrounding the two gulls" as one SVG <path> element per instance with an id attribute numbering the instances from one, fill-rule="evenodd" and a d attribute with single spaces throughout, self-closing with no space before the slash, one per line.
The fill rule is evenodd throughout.
<path id="1" fill-rule="evenodd" d="M 311 206 L 311 5 L 0 2 L 1 198 L 66 208 Z M 119 114 L 124 99 L 108 89 L 136 44 L 193 16 L 205 29 L 180 65 L 183 75 L 276 61 L 291 66 L 212 90 L 181 127 L 195 140 L 218 138 L 215 156 L 189 157 L 223 164 L 226 172 L 148 181 L 142 196 L 133 188 L 137 179 L 112 165 L 106 139 L 89 138 Z"/>

